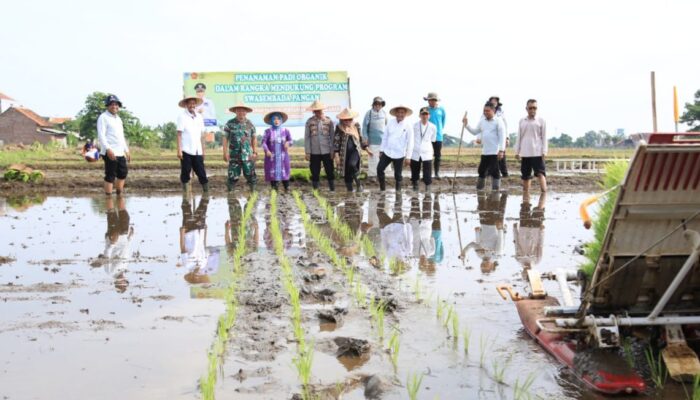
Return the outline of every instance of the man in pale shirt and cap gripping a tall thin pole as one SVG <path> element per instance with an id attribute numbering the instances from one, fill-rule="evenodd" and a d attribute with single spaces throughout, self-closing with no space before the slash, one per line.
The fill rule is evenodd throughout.
<path id="1" fill-rule="evenodd" d="M 506 148 L 506 130 L 503 121 L 495 117 L 496 108 L 493 104 L 484 105 L 484 118 L 479 121 L 476 128 L 469 126 L 469 121 L 465 116 L 462 123 L 472 135 L 481 135 L 483 147 L 481 150 L 481 161 L 479 162 L 479 179 L 476 183 L 476 190 L 483 190 L 486 183 L 486 174 L 491 175 L 491 189 L 501 188 L 501 172 L 498 169 L 498 160 L 503 158 Z"/>

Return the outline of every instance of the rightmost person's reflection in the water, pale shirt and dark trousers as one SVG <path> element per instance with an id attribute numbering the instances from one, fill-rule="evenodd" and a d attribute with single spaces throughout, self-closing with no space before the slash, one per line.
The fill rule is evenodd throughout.
<path id="1" fill-rule="evenodd" d="M 515 241 L 515 259 L 523 268 L 531 268 L 542 259 L 542 245 L 544 244 L 544 204 L 547 194 L 542 192 L 537 207 L 531 209 L 530 194 L 523 194 L 523 202 L 520 204 L 520 226 L 513 224 L 513 236 Z"/>

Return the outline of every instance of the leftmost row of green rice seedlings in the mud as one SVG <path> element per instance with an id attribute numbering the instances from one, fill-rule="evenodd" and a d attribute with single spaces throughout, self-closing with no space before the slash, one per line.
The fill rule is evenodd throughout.
<path id="1" fill-rule="evenodd" d="M 224 314 L 219 317 L 216 327 L 216 337 L 207 354 L 207 374 L 199 380 L 200 393 L 202 398 L 205 400 L 214 399 L 214 386 L 216 385 L 219 370 L 222 368 L 223 355 L 226 351 L 226 344 L 229 340 L 229 332 L 233 328 L 236 321 L 236 314 L 238 312 L 238 301 L 236 299 L 236 293 L 238 292 L 237 285 L 240 275 L 243 273 L 241 259 L 245 255 L 246 251 L 245 228 L 253 215 L 253 207 L 257 201 L 257 196 L 257 193 L 253 193 L 253 195 L 248 199 L 245 211 L 238 225 L 239 240 L 233 253 L 233 268 L 229 279 L 230 283 L 224 294 L 226 310 L 224 311 Z"/>

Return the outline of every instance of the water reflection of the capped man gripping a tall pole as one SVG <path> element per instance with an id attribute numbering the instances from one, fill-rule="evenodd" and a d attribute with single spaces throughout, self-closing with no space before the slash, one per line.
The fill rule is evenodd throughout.
<path id="1" fill-rule="evenodd" d="M 462 257 L 468 249 L 473 248 L 481 258 L 481 271 L 492 272 L 498 265 L 498 258 L 503 255 L 505 243 L 505 217 L 507 193 L 491 192 L 488 196 L 479 196 L 479 222 L 474 228 L 475 240 L 462 249 Z"/>

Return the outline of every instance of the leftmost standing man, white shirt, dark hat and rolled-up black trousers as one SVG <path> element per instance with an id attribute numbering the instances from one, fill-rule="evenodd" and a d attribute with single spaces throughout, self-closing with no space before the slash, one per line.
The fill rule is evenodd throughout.
<path id="1" fill-rule="evenodd" d="M 112 186 L 116 186 L 117 195 L 121 195 L 129 172 L 127 162 L 131 161 L 129 146 L 124 138 L 124 124 L 119 118 L 122 102 L 117 96 L 110 94 L 105 99 L 105 106 L 107 111 L 97 118 L 97 141 L 105 162 L 104 190 L 105 194 L 110 196 Z"/>

